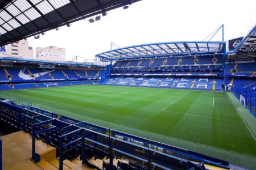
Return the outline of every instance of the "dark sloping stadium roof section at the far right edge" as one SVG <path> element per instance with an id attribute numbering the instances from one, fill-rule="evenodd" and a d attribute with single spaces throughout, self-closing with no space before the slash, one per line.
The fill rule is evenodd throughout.
<path id="1" fill-rule="evenodd" d="M 246 35 L 246 37 L 229 54 L 255 55 L 256 54 L 256 25 Z"/>

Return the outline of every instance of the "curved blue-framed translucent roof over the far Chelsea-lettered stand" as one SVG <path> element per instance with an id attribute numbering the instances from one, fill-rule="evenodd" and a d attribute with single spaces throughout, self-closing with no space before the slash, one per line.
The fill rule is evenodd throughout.
<path id="1" fill-rule="evenodd" d="M 102 61 L 118 59 L 132 59 L 145 57 L 189 56 L 205 54 L 224 54 L 226 43 L 224 41 L 184 41 L 161 42 L 128 46 L 97 54 Z"/>

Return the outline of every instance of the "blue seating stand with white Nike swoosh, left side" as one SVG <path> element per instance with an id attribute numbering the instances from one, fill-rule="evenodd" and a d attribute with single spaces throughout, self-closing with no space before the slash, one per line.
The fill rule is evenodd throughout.
<path id="1" fill-rule="evenodd" d="M 72 86 L 79 84 L 98 83 L 105 69 L 98 70 L 68 70 L 68 69 L 40 69 L 22 67 L 0 67 L 0 90 L 17 90 L 22 88 Z"/>

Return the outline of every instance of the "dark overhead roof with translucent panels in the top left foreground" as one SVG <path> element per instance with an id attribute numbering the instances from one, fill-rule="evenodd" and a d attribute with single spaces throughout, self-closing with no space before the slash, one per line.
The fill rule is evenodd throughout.
<path id="1" fill-rule="evenodd" d="M 0 0 L 0 46 L 141 0 Z"/>

